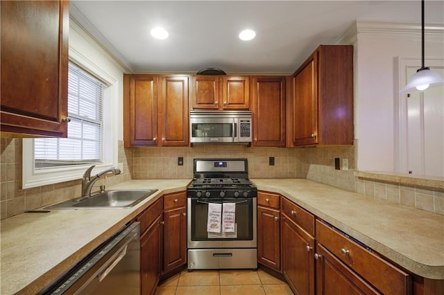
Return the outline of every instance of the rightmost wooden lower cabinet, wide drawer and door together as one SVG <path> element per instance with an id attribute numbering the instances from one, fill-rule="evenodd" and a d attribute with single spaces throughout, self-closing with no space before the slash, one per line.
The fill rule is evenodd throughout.
<path id="1" fill-rule="evenodd" d="M 411 275 L 320 220 L 316 240 L 317 294 L 413 293 Z"/>

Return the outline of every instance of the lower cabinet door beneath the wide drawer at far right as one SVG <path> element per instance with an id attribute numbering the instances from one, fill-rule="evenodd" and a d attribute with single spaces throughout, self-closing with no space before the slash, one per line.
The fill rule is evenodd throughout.
<path id="1" fill-rule="evenodd" d="M 323 245 L 316 247 L 316 294 L 381 294 Z"/>

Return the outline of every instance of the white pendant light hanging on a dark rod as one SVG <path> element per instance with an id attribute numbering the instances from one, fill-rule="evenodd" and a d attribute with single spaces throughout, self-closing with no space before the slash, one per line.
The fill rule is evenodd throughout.
<path id="1" fill-rule="evenodd" d="M 438 73 L 424 66 L 424 0 L 421 0 L 421 43 L 422 43 L 422 59 L 421 67 L 416 74 L 411 77 L 406 87 L 400 93 L 413 93 L 425 91 L 425 89 L 439 87 L 444 84 L 443 78 Z"/>

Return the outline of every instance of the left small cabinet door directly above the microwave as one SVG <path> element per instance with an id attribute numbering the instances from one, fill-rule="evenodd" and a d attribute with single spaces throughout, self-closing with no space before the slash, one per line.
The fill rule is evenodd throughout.
<path id="1" fill-rule="evenodd" d="M 219 109 L 219 77 L 194 76 L 192 98 L 193 109 Z"/>

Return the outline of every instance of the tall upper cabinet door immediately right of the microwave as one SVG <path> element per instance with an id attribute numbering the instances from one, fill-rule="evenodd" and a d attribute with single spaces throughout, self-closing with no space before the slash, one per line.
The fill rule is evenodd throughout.
<path id="1" fill-rule="evenodd" d="M 285 146 L 285 78 L 253 77 L 253 145 Z"/>

